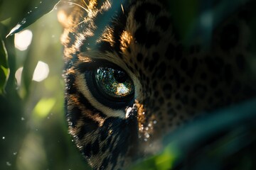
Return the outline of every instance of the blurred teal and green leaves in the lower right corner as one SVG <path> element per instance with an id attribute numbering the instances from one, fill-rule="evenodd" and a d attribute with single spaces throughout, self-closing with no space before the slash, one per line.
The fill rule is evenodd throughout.
<path id="1" fill-rule="evenodd" d="M 164 151 L 130 169 L 256 169 L 256 98 L 166 135 Z"/>

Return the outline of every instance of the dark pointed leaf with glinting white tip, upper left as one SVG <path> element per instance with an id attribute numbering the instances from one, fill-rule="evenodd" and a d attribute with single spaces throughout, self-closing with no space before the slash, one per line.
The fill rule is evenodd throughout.
<path id="1" fill-rule="evenodd" d="M 44 14 L 52 11 L 54 6 L 58 4 L 59 0 L 42 0 L 38 6 L 35 6 L 17 25 L 11 29 L 10 33 L 6 36 L 14 35 L 20 32 L 24 28 L 30 26 L 32 23 L 41 18 Z"/>

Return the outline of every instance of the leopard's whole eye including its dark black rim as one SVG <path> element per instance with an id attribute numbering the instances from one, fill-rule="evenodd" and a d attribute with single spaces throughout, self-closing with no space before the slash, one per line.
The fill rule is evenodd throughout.
<path id="1" fill-rule="evenodd" d="M 85 84 L 80 89 L 95 106 L 102 104 L 113 110 L 132 106 L 135 86 L 132 77 L 115 64 L 105 60 L 85 62 L 78 66 Z M 101 106 L 102 107 L 102 106 Z"/>

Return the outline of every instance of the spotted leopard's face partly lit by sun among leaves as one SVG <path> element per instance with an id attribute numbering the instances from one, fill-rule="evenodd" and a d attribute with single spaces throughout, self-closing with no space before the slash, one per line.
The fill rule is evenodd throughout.
<path id="1" fill-rule="evenodd" d="M 153 154 L 166 132 L 254 95 L 250 31 L 240 18 L 216 29 L 203 51 L 183 47 L 159 1 L 70 4 L 62 38 L 65 107 L 70 134 L 95 169 Z"/>

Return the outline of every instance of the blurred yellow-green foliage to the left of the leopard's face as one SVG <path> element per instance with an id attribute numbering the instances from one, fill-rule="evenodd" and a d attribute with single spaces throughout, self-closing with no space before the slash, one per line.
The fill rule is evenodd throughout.
<path id="1" fill-rule="evenodd" d="M 62 28 L 57 10 L 44 15 L 54 3 L 0 1 L 0 169 L 88 169 L 65 122 Z M 24 17 L 28 25 L 35 22 L 23 26 L 33 38 L 28 49 L 21 51 L 14 47 L 14 35 L 6 35 Z M 38 61 L 50 70 L 40 82 L 32 80 Z M 15 74 L 21 67 L 18 84 Z"/>

